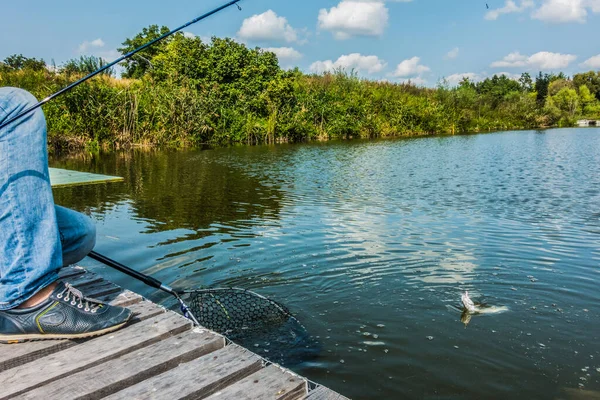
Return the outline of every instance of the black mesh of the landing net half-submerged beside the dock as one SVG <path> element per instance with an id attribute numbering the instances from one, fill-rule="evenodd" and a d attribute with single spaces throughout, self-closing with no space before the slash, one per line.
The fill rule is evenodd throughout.
<path id="1" fill-rule="evenodd" d="M 273 362 L 291 366 L 314 358 L 319 343 L 282 304 L 237 288 L 187 291 L 200 325 Z"/>

